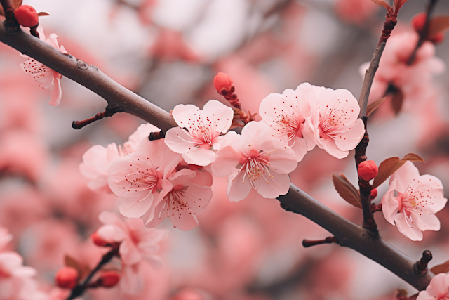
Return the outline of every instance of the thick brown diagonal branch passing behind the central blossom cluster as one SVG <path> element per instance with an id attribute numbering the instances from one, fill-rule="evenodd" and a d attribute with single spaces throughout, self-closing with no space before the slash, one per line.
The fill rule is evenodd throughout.
<path id="1" fill-rule="evenodd" d="M 158 126 L 163 131 L 177 126 L 170 113 L 125 89 L 103 74 L 97 67 L 84 63 L 73 56 L 65 56 L 40 39 L 25 34 L 22 30 L 8 32 L 3 23 L 0 25 L 0 41 L 51 67 L 51 69 L 60 72 L 60 74 L 82 86 L 86 86 L 86 88 L 105 98 L 109 109 L 128 112 L 154 126 Z M 376 52 L 382 53 L 382 50 L 381 44 Z M 376 53 L 375 57 L 377 57 Z M 368 89 L 369 93 L 369 88 L 365 89 Z M 366 108 L 363 110 L 363 114 L 365 112 Z M 283 209 L 302 214 L 302 216 L 314 221 L 335 235 L 342 246 L 354 249 L 369 259 L 380 263 L 413 287 L 422 290 L 429 285 L 431 273 L 427 271 L 423 275 L 415 275 L 413 273 L 413 264 L 415 263 L 413 259 L 384 242 L 379 236 L 370 237 L 365 228 L 347 221 L 295 187 L 295 185 L 290 184 L 289 193 L 279 197 L 278 200 L 281 202 Z"/>

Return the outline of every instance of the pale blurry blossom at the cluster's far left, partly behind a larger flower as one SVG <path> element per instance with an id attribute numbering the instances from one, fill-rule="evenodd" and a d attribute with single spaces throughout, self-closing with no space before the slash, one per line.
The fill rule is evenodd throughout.
<path id="1" fill-rule="evenodd" d="M 94 145 L 83 155 L 83 162 L 79 165 L 81 174 L 91 179 L 88 187 L 91 190 L 102 190 L 111 192 L 107 184 L 107 173 L 114 160 L 124 157 L 138 150 L 140 142 L 148 138 L 150 132 L 160 129 L 152 124 L 142 124 L 133 134 L 130 135 L 127 142 L 117 147 L 116 143 L 111 143 L 107 147 Z"/>

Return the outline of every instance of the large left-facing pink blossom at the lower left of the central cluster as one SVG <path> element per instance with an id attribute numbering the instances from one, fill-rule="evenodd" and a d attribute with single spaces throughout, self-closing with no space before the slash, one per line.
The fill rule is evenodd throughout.
<path id="1" fill-rule="evenodd" d="M 145 214 L 156 199 L 171 189 L 167 181 L 180 161 L 163 140 L 140 143 L 136 152 L 116 159 L 109 168 L 109 188 L 120 197 L 119 210 L 128 218 Z M 160 194 L 160 195 L 159 195 Z"/>

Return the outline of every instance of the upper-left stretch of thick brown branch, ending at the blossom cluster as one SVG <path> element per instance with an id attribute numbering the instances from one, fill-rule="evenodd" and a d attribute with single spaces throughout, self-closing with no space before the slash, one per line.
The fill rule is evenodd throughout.
<path id="1" fill-rule="evenodd" d="M 101 72 L 98 67 L 84 63 L 73 56 L 64 55 L 44 41 L 33 37 L 31 34 L 26 34 L 22 30 L 9 32 L 5 25 L 5 22 L 0 23 L 0 41 L 2 43 L 34 58 L 82 86 L 86 86 L 86 88 L 105 98 L 110 110 L 128 112 L 163 131 L 177 126 L 170 113 L 116 83 Z"/>

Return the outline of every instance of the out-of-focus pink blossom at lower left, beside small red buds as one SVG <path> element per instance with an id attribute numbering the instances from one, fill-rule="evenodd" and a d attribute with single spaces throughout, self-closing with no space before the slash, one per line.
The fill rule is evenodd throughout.
<path id="1" fill-rule="evenodd" d="M 137 294 L 143 288 L 140 275 L 142 261 L 149 261 L 156 268 L 161 266 L 161 258 L 156 253 L 159 250 L 158 243 L 166 236 L 166 230 L 145 228 L 140 219 L 123 222 L 117 214 L 109 211 L 103 211 L 99 219 L 105 225 L 98 228 L 98 237 L 110 244 L 120 243 L 121 291 Z"/>

